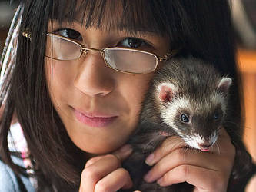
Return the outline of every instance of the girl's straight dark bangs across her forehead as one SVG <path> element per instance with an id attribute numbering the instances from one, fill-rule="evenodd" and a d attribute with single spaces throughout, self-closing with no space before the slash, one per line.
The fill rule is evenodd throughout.
<path id="1" fill-rule="evenodd" d="M 50 19 L 81 22 L 85 28 L 148 31 L 166 35 L 169 31 L 165 5 L 148 0 L 55 0 Z"/>

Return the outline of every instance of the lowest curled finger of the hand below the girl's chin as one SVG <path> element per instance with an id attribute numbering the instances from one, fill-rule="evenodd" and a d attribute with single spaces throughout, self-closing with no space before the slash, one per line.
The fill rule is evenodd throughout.
<path id="1" fill-rule="evenodd" d="M 111 172 L 95 185 L 95 192 L 105 191 L 113 192 L 121 188 L 128 189 L 132 187 L 131 177 L 128 171 L 123 168 Z"/>

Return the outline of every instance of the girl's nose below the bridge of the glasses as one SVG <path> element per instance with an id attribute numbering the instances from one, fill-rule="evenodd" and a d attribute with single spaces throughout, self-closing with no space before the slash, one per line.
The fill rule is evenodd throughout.
<path id="1" fill-rule="evenodd" d="M 115 88 L 115 79 L 113 71 L 105 65 L 101 54 L 95 51 L 89 51 L 87 55 L 81 58 L 77 74 L 75 76 L 75 87 L 79 91 L 94 97 L 105 96 Z"/>

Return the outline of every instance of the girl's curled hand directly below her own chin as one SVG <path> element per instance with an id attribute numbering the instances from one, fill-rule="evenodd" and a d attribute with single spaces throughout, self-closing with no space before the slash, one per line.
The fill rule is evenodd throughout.
<path id="1" fill-rule="evenodd" d="M 126 144 L 112 154 L 89 159 L 81 173 L 79 192 L 114 192 L 132 187 L 128 171 L 121 167 L 121 161 L 131 151 L 131 147 Z"/>

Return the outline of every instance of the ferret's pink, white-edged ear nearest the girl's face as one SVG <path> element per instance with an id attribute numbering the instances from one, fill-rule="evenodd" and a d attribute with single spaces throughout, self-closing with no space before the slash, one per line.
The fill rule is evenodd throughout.
<path id="1" fill-rule="evenodd" d="M 160 101 L 171 101 L 178 91 L 172 83 L 161 83 L 158 85 L 158 98 Z"/>

